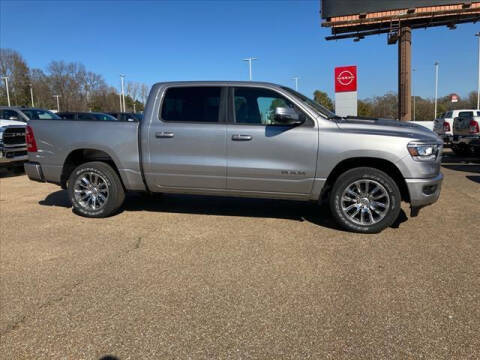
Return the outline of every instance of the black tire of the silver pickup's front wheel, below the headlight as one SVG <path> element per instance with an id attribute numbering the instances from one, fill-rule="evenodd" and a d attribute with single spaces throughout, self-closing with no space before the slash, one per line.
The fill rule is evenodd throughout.
<path id="1" fill-rule="evenodd" d="M 356 182 L 359 182 L 360 187 L 362 184 L 366 187 L 367 183 L 369 188 L 375 186 L 372 190 L 379 188 L 380 193 L 372 191 L 372 194 L 379 195 L 385 194 L 383 198 L 379 198 L 379 201 L 374 201 L 374 197 L 370 199 L 370 194 L 364 196 L 352 196 L 349 193 L 345 194 L 345 197 L 349 199 L 352 197 L 352 201 L 343 200 L 344 192 L 348 192 L 347 189 L 351 189 Z M 378 186 L 380 185 L 380 186 Z M 355 185 L 356 188 L 356 185 Z M 365 191 L 368 192 L 367 188 Z M 360 194 L 361 191 L 356 188 Z M 373 195 L 372 195 L 373 196 Z M 354 200 L 353 198 L 357 199 Z M 365 200 L 364 200 L 365 199 Z M 368 200 L 368 201 L 367 201 Z M 397 220 L 400 214 L 401 194 L 395 181 L 383 171 L 369 167 L 359 167 L 348 170 L 339 176 L 335 184 L 333 185 L 332 192 L 330 193 L 330 210 L 337 223 L 346 230 L 359 232 L 359 233 L 378 233 L 383 229 L 391 226 L 395 220 Z M 361 202 L 362 204 L 359 204 Z M 380 202 L 384 205 L 384 210 L 379 206 Z M 353 207 L 350 213 L 347 210 L 348 206 L 352 204 Z M 345 205 L 345 206 L 342 206 Z M 378 206 L 377 206 L 378 205 Z M 359 207 L 365 207 L 364 210 L 360 210 L 355 216 L 362 217 L 358 221 L 356 217 L 351 217 Z M 365 212 L 364 212 L 365 211 Z M 363 213 L 363 214 L 362 214 Z M 369 216 L 369 213 L 372 216 Z M 379 214 L 381 213 L 381 214 Z M 363 220 L 364 217 L 368 218 L 368 222 Z M 361 223 L 359 223 L 361 222 Z"/>

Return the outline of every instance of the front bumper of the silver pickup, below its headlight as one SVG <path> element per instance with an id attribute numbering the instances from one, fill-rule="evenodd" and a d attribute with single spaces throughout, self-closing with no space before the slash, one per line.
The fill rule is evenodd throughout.
<path id="1" fill-rule="evenodd" d="M 412 211 L 433 204 L 440 197 L 443 174 L 429 179 L 406 179 Z"/>

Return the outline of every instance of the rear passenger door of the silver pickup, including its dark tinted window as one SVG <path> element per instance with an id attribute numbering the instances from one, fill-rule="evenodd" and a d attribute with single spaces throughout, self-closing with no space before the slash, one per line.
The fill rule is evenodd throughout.
<path id="1" fill-rule="evenodd" d="M 226 187 L 227 88 L 166 89 L 148 131 L 145 175 L 153 191 Z"/>

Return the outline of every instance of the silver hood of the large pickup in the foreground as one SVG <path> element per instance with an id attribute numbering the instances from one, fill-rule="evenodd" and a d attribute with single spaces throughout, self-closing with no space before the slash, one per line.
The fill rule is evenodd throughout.
<path id="1" fill-rule="evenodd" d="M 340 129 L 352 133 L 397 136 L 415 140 L 442 142 L 433 131 L 410 122 L 390 119 L 346 117 L 337 120 L 337 125 Z"/>

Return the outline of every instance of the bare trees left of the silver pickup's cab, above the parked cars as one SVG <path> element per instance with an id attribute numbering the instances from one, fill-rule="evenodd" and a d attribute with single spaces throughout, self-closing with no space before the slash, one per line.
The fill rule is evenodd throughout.
<path id="1" fill-rule="evenodd" d="M 8 76 L 12 106 L 56 109 L 59 95 L 61 111 L 119 111 L 120 94 L 102 75 L 88 71 L 83 64 L 52 61 L 42 69 L 29 68 L 15 50 L 0 48 L 0 75 Z M 0 104 L 7 104 L 5 82 L 0 85 Z M 126 111 L 143 111 L 149 87 L 129 81 L 125 87 Z"/>

